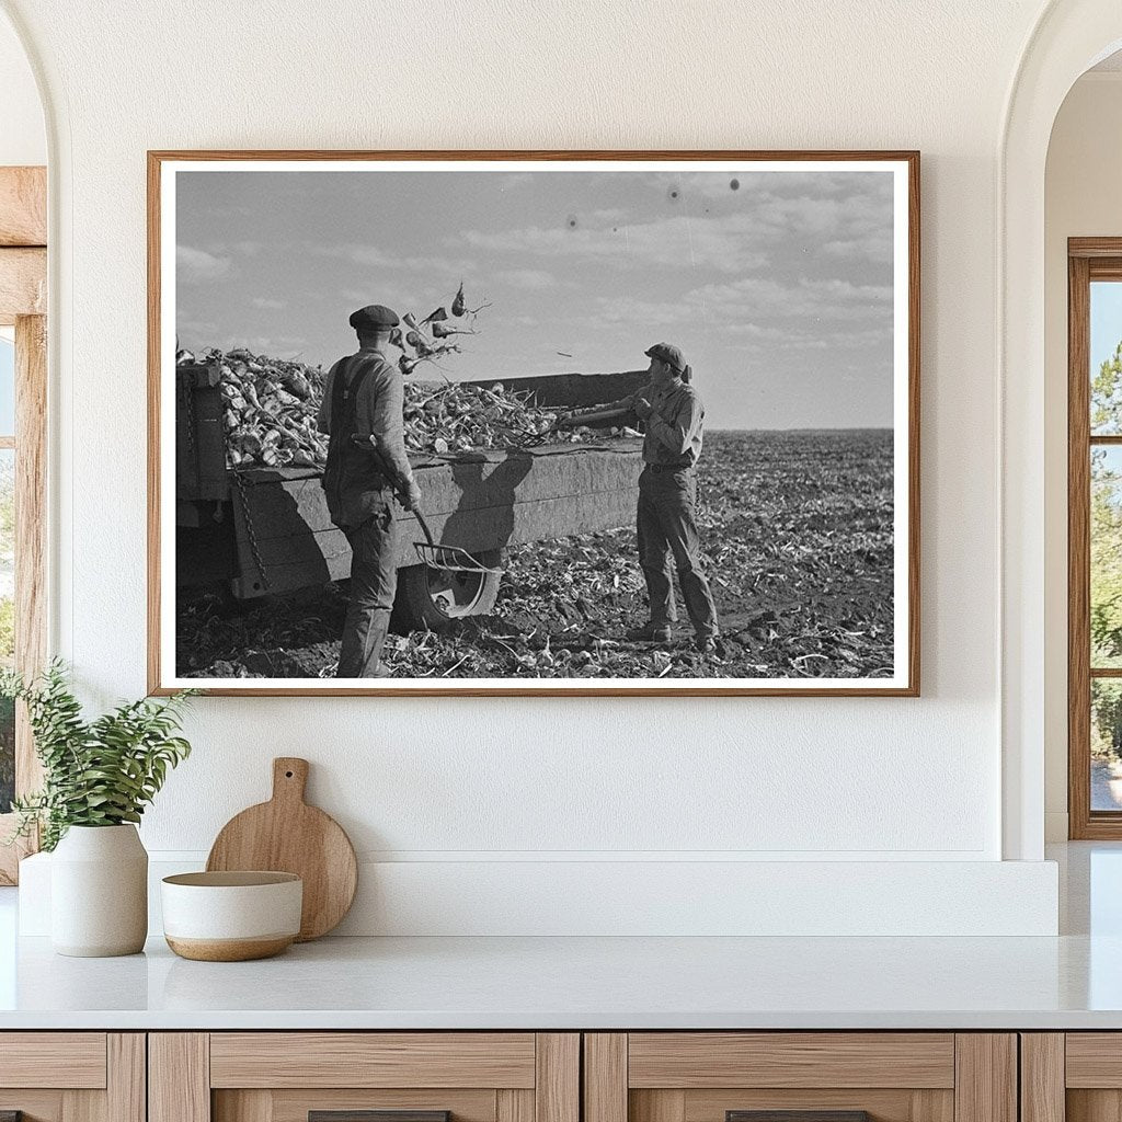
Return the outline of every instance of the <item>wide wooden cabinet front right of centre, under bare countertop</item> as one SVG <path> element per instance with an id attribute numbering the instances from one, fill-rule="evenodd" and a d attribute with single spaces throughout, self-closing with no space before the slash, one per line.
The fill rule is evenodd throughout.
<path id="1" fill-rule="evenodd" d="M 589 1033 L 585 1122 L 1017 1122 L 1017 1039 Z"/>

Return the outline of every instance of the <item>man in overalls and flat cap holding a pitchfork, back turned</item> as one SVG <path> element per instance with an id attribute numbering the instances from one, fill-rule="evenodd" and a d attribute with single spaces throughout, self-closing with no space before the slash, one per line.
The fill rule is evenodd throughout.
<path id="1" fill-rule="evenodd" d="M 381 304 L 350 318 L 359 349 L 328 371 L 320 432 L 330 435 L 323 472 L 331 521 L 351 548 L 350 594 L 339 652 L 338 678 L 387 678 L 381 661 L 397 590 L 395 484 L 412 511 L 421 493 L 408 457 L 402 408 L 405 389 L 386 358 L 397 316 Z"/>

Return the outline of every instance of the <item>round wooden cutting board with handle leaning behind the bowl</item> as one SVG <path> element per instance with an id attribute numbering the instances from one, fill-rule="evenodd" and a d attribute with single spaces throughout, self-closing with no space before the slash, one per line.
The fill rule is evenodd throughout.
<path id="1" fill-rule="evenodd" d="M 297 942 L 337 927 L 358 886 L 355 848 L 343 828 L 304 802 L 306 760 L 273 761 L 273 798 L 236 815 L 222 827 L 206 858 L 208 872 L 270 870 L 296 873 L 304 882 Z"/>

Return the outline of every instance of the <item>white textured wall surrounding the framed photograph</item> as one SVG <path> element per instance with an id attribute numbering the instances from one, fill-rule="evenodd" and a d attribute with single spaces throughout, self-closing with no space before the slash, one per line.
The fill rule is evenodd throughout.
<path id="1" fill-rule="evenodd" d="M 994 199 L 1034 0 L 7 7 L 58 129 L 56 646 L 99 701 L 145 688 L 145 149 L 923 154 L 921 699 L 202 699 L 149 847 L 205 850 L 300 754 L 394 876 L 1001 856 Z"/>

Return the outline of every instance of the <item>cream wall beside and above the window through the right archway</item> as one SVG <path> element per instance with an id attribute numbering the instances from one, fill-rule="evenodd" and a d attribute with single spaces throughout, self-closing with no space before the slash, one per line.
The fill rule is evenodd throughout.
<path id="1" fill-rule="evenodd" d="M 1122 72 L 1086 74 L 1056 118 L 1046 176 L 1046 808 L 1067 837 L 1067 239 L 1122 236 Z"/>

